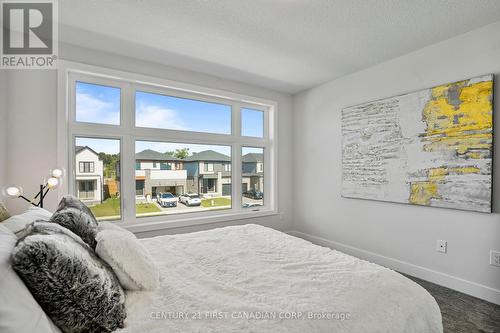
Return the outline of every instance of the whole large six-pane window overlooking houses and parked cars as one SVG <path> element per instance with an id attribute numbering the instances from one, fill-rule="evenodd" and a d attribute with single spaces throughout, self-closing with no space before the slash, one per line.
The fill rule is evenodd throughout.
<path id="1" fill-rule="evenodd" d="M 61 71 L 65 184 L 100 220 L 149 230 L 276 213 L 275 103 L 86 65 Z"/>

